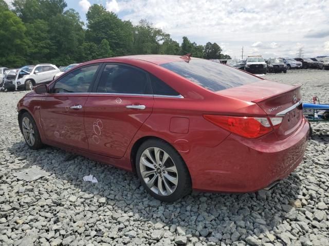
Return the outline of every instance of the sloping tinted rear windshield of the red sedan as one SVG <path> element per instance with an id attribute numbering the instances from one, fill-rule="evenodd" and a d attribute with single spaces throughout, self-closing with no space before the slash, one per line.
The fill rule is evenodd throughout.
<path id="1" fill-rule="evenodd" d="M 262 80 L 241 70 L 203 59 L 174 61 L 160 66 L 210 91 L 221 91 Z"/>

